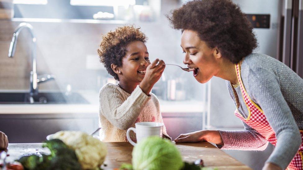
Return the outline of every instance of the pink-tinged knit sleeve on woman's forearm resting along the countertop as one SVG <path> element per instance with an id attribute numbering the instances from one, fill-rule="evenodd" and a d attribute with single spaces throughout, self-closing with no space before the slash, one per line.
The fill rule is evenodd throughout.
<path id="1" fill-rule="evenodd" d="M 218 130 L 223 140 L 223 146 L 218 147 L 226 150 L 265 150 L 268 145 L 265 137 L 246 123 L 242 123 L 245 130 Z"/>

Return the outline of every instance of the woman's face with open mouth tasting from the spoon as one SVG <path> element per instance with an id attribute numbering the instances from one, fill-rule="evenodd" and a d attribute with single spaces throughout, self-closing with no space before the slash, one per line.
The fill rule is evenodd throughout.
<path id="1" fill-rule="evenodd" d="M 193 76 L 200 83 L 206 83 L 219 72 L 218 50 L 210 48 L 201 41 L 198 33 L 184 30 L 181 37 L 181 47 L 185 53 L 183 63 L 189 68 L 196 68 Z"/>

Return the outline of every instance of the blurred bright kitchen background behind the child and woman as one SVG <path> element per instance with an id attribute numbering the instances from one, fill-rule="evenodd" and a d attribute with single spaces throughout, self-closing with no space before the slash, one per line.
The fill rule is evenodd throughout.
<path id="1" fill-rule="evenodd" d="M 98 92 L 115 83 L 97 55 L 102 34 L 141 27 L 151 60 L 186 67 L 181 32 L 165 15 L 185 0 L 0 0 L 0 130 L 11 143 L 41 142 L 59 130 L 87 133 L 98 127 Z M 259 47 L 303 76 L 302 0 L 233 0 L 254 26 Z M 21 23 L 23 26 L 15 32 Z M 23 30 L 24 28 L 24 30 Z M 15 34 L 14 34 L 15 32 Z M 8 57 L 13 35 L 15 54 Z M 36 66 L 36 67 L 33 67 Z M 35 71 L 38 95 L 33 97 Z M 31 74 L 32 72 L 32 74 Z M 152 92 L 172 137 L 201 129 L 243 129 L 225 81 L 198 83 L 191 72 L 166 66 Z M 226 151 L 261 169 L 273 150 Z"/>

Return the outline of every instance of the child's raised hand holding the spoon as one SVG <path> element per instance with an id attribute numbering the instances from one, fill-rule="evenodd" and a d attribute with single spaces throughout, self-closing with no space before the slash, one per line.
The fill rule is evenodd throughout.
<path id="1" fill-rule="evenodd" d="M 157 65 L 158 62 L 159 64 Z M 145 76 L 139 85 L 145 94 L 149 95 L 149 92 L 152 90 L 154 84 L 160 79 L 164 68 L 164 61 L 159 59 L 156 59 L 147 66 Z"/>

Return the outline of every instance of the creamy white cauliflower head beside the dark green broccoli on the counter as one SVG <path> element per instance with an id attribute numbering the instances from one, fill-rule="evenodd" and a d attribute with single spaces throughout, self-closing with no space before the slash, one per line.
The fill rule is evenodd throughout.
<path id="1" fill-rule="evenodd" d="M 75 150 L 83 169 L 100 167 L 107 154 L 106 145 L 98 139 L 79 131 L 59 131 L 52 139 L 60 139 Z"/>

